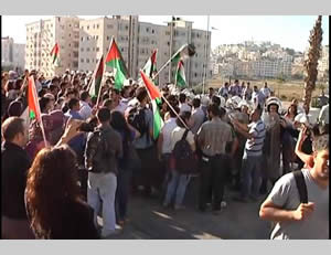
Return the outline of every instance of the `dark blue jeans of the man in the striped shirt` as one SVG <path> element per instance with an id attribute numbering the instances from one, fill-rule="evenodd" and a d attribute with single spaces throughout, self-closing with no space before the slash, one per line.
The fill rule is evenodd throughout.
<path id="1" fill-rule="evenodd" d="M 247 156 L 243 157 L 243 170 L 242 170 L 242 198 L 259 194 L 259 188 L 261 184 L 261 162 L 263 156 Z"/>

